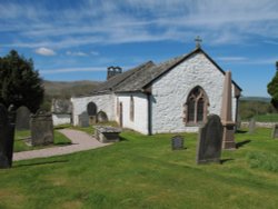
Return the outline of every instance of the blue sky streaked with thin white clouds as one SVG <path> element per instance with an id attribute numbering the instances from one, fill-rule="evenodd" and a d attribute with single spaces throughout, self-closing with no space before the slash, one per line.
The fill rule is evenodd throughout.
<path id="1" fill-rule="evenodd" d="M 47 80 L 105 80 L 202 49 L 244 89 L 267 93 L 278 60 L 277 0 L 0 0 L 0 57 L 16 49 Z"/>

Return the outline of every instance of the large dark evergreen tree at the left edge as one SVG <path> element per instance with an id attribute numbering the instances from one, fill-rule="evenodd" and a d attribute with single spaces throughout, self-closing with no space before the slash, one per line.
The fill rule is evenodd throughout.
<path id="1" fill-rule="evenodd" d="M 26 106 L 36 112 L 42 100 L 44 89 L 39 72 L 33 69 L 32 59 L 27 60 L 16 50 L 0 58 L 0 102 L 19 108 Z"/>

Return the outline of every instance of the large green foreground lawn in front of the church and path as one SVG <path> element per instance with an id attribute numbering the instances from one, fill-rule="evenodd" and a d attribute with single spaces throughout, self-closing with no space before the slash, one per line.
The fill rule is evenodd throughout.
<path id="1" fill-rule="evenodd" d="M 121 133 L 122 141 L 0 170 L 0 208 L 274 208 L 278 140 L 270 129 L 237 133 L 222 165 L 196 165 L 195 133 L 172 151 L 173 135 Z M 266 166 L 267 165 L 267 166 Z"/>

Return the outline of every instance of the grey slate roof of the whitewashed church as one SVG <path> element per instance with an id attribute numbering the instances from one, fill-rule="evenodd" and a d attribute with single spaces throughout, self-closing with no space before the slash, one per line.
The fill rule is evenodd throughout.
<path id="1" fill-rule="evenodd" d="M 152 61 L 148 61 L 121 74 L 117 74 L 95 89 L 93 93 L 142 91 L 162 74 L 199 52 L 203 53 L 216 68 L 225 74 L 225 71 L 201 48 L 196 48 L 190 53 L 170 59 L 166 62 L 155 64 Z M 241 88 L 235 81 L 232 81 L 232 83 L 241 91 Z"/>

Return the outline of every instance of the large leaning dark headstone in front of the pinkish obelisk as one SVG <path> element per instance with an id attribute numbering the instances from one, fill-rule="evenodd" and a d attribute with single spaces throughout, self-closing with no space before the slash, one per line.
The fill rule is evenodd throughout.
<path id="1" fill-rule="evenodd" d="M 197 163 L 220 162 L 224 127 L 216 115 L 208 116 L 207 122 L 199 129 Z"/>

